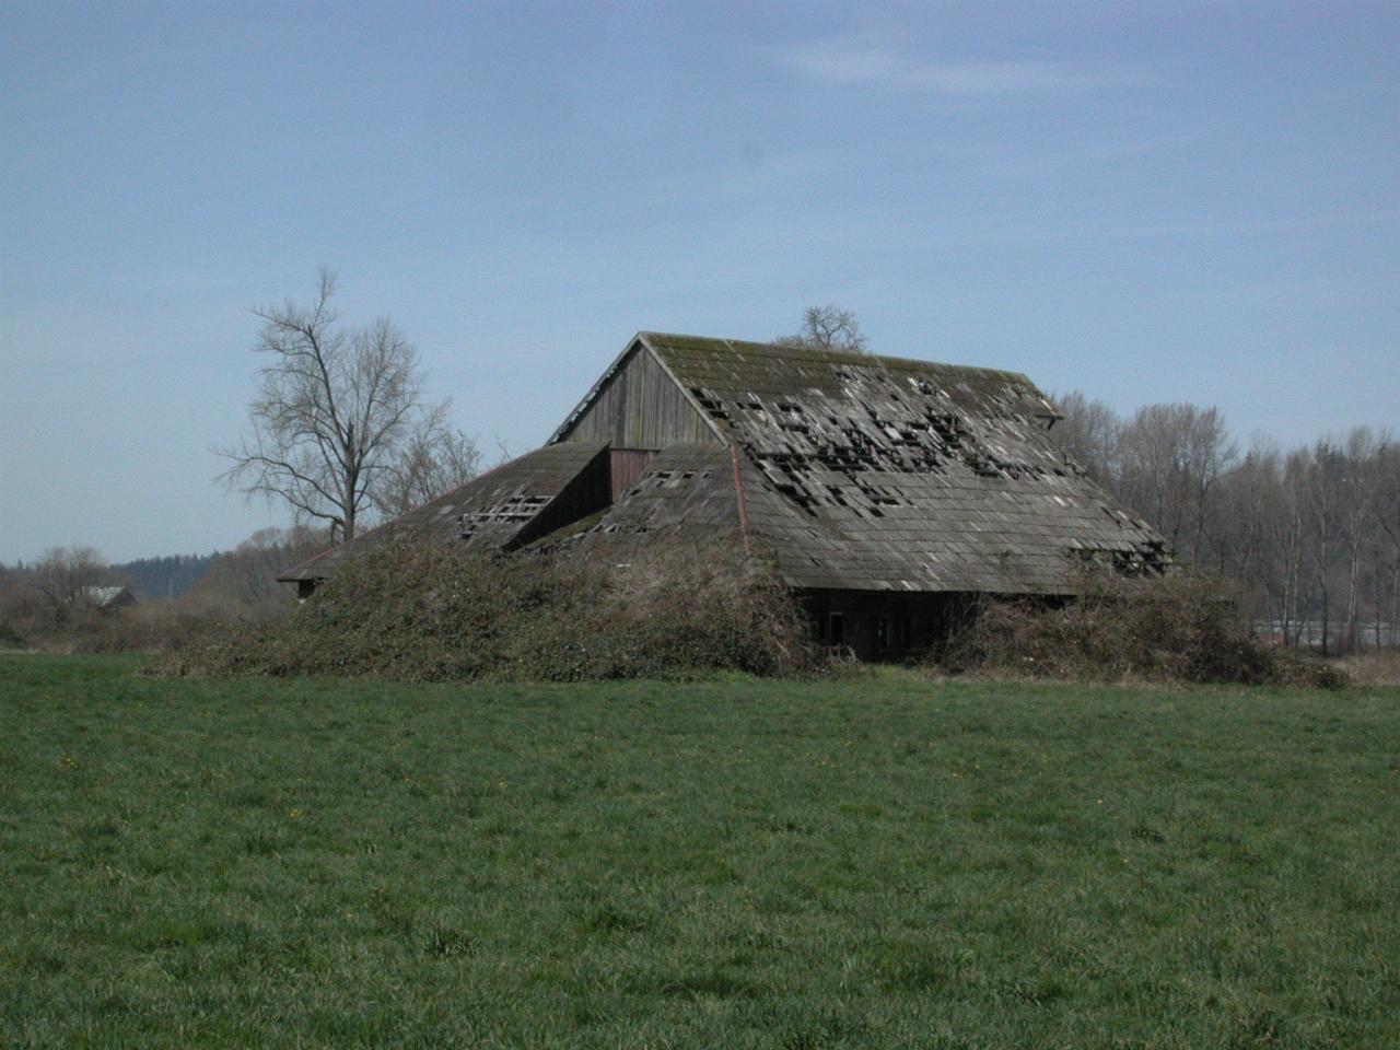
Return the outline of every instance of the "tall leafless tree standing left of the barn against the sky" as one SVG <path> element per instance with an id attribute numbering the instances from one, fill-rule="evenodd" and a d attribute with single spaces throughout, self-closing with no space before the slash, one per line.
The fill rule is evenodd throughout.
<path id="1" fill-rule="evenodd" d="M 248 433 L 220 451 L 220 477 L 248 496 L 283 500 L 298 521 L 325 522 L 353 539 L 361 515 L 402 472 L 402 458 L 435 448 L 447 405 L 424 403 L 417 350 L 388 318 L 349 330 L 330 300 L 335 273 L 322 269 L 309 307 L 286 301 L 255 309 L 260 370 Z M 465 435 L 456 441 L 470 444 Z"/>

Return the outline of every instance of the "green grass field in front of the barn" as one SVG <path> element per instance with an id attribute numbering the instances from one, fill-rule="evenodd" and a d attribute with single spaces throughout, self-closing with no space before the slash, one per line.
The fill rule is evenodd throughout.
<path id="1" fill-rule="evenodd" d="M 1400 690 L 0 658 L 0 1047 L 1397 1047 Z"/>

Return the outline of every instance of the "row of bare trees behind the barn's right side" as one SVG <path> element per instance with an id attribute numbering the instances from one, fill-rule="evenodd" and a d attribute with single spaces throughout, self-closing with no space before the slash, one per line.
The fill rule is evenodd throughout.
<path id="1" fill-rule="evenodd" d="M 1155 525 L 1177 559 L 1232 577 L 1257 620 L 1324 652 L 1400 645 L 1400 445 L 1355 427 L 1291 449 L 1240 451 L 1215 407 L 1116 413 L 1054 398 L 1051 434 Z"/>

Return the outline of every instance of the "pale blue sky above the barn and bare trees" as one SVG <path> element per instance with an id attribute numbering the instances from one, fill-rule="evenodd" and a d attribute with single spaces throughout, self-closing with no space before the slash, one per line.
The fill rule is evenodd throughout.
<path id="1" fill-rule="evenodd" d="M 539 444 L 638 329 L 1400 423 L 1400 6 L 0 0 L 0 560 L 228 547 L 248 308 L 339 269 Z"/>

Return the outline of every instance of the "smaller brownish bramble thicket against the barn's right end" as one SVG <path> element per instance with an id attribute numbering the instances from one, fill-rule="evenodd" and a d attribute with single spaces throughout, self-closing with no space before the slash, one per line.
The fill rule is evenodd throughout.
<path id="1" fill-rule="evenodd" d="M 1254 637 L 1233 585 L 1180 571 L 1088 574 L 1068 602 L 984 599 L 944 666 L 1070 682 L 1238 682 L 1340 687 L 1344 672 Z"/>

